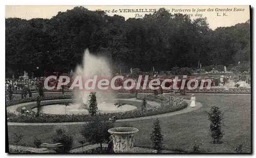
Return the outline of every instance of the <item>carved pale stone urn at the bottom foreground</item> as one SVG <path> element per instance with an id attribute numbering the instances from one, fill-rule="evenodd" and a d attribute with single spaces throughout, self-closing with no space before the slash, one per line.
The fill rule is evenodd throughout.
<path id="1" fill-rule="evenodd" d="M 116 127 L 110 128 L 109 133 L 112 134 L 113 150 L 115 153 L 131 153 L 133 152 L 134 133 L 138 132 L 133 127 Z"/>

